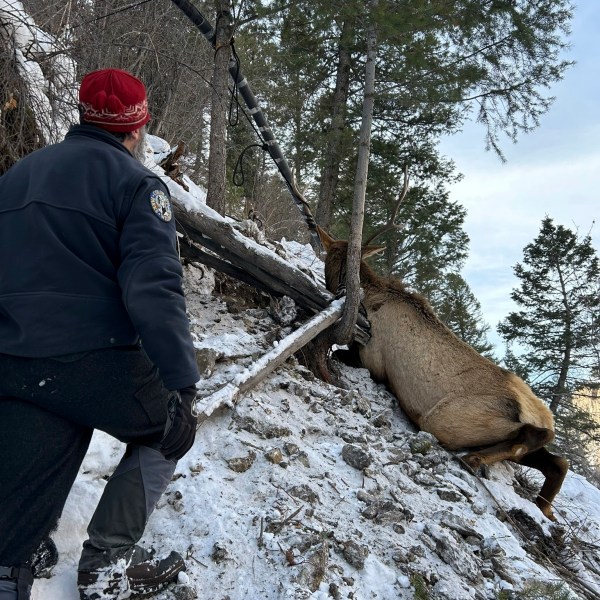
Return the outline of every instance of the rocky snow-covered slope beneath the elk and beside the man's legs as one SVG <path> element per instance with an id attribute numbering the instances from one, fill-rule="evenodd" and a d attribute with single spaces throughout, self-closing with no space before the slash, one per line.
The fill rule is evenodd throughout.
<path id="1" fill-rule="evenodd" d="M 186 287 L 206 393 L 289 332 L 231 290 L 226 304 L 207 270 L 187 268 Z M 504 464 L 474 477 L 365 370 L 342 372 L 345 390 L 291 359 L 202 423 L 144 538 L 187 557 L 199 598 L 507 598 L 560 582 L 557 568 L 600 596 L 596 488 L 570 474 L 552 525 L 522 497 L 536 492 L 533 474 L 531 489 Z M 95 434 L 55 535 L 60 562 L 36 581 L 35 600 L 77 598 L 87 520 L 122 451 Z M 175 587 L 159 598 L 186 594 Z"/>

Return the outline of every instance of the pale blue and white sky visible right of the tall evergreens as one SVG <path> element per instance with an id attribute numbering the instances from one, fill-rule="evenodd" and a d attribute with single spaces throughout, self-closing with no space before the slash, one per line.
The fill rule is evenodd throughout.
<path id="1" fill-rule="evenodd" d="M 579 0 L 565 58 L 576 61 L 553 86 L 556 100 L 540 127 L 517 144 L 506 139 L 506 163 L 485 151 L 483 126 L 470 123 L 442 142 L 442 151 L 464 175 L 451 198 L 467 209 L 470 257 L 463 275 L 491 326 L 490 341 L 504 354 L 496 325 L 516 309 L 510 292 L 513 267 L 537 237 L 542 219 L 591 230 L 600 252 L 600 2 Z"/>

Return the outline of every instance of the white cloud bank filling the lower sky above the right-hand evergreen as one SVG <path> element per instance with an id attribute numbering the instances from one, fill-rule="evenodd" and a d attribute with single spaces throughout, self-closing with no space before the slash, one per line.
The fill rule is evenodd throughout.
<path id="1" fill-rule="evenodd" d="M 494 330 L 517 308 L 510 299 L 519 284 L 513 267 L 522 260 L 523 248 L 538 235 L 542 219 L 548 215 L 583 235 L 600 217 L 596 191 L 600 152 L 571 156 L 543 161 L 525 157 L 502 164 L 488 155 L 466 165 L 465 178 L 450 188 L 452 199 L 468 211 L 465 230 L 471 244 L 464 276 Z M 460 159 L 457 162 L 461 170 Z M 598 248 L 598 222 L 592 240 Z M 500 350 L 500 338 L 496 334 L 490 338 Z"/>

